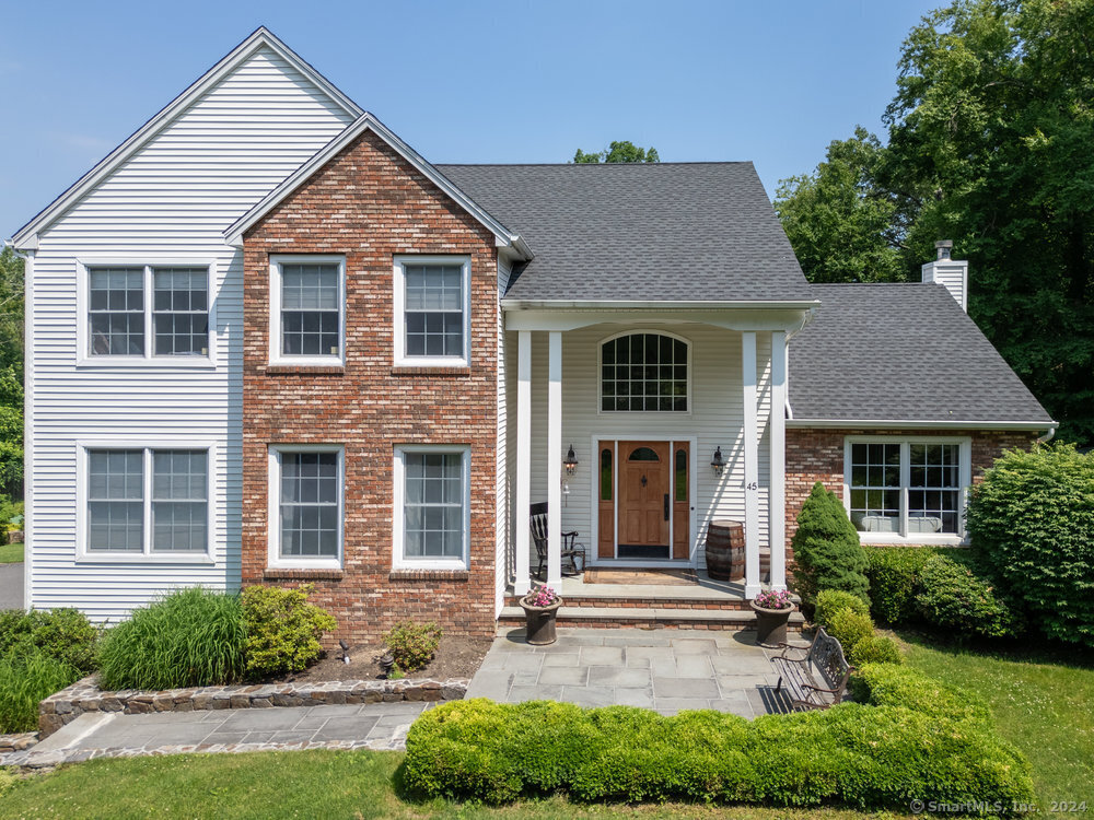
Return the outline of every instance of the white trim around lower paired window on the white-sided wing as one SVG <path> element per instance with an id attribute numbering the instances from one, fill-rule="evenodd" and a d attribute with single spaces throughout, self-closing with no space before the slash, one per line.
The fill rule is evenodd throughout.
<path id="1" fill-rule="evenodd" d="M 106 552 L 88 549 L 88 450 L 139 449 L 144 459 L 144 544 L 135 552 Z M 205 552 L 152 552 L 152 450 L 197 449 L 206 452 L 206 523 Z M 207 440 L 121 441 L 118 438 L 81 438 L 75 444 L 75 560 L 82 564 L 212 564 L 214 524 L 217 522 L 217 444 Z"/>

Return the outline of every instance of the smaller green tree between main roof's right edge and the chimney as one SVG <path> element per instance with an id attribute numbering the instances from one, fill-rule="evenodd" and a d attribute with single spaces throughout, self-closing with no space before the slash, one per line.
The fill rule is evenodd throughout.
<path id="1" fill-rule="evenodd" d="M 876 183 L 883 149 L 861 126 L 835 140 L 812 174 L 783 179 L 775 199 L 811 282 L 906 278 L 894 198 Z"/>

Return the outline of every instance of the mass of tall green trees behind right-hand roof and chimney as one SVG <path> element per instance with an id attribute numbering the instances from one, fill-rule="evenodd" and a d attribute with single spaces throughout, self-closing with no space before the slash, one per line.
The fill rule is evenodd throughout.
<path id="1" fill-rule="evenodd" d="M 818 167 L 815 186 L 835 178 L 824 197 L 806 186 L 796 209 L 780 206 L 795 251 L 817 281 L 858 281 L 860 248 L 895 248 L 916 280 L 934 241 L 953 238 L 973 318 L 1060 436 L 1094 444 L 1094 0 L 956 0 L 911 30 L 898 67 L 887 145 L 833 143 L 852 143 L 847 178 L 892 208 L 889 224 L 831 204 L 852 186 Z M 785 187 L 790 199 L 801 186 Z M 825 209 L 842 215 L 841 244 L 818 239 Z"/>

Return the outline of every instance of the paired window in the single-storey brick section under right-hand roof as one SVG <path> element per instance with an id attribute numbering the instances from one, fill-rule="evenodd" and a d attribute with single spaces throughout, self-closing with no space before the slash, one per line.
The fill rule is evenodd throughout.
<path id="1" fill-rule="evenodd" d="M 850 436 L 845 499 L 866 542 L 948 543 L 965 537 L 968 438 Z"/>

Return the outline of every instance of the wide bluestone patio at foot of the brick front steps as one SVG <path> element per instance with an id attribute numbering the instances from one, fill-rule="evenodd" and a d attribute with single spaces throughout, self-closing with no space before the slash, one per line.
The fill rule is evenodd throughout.
<path id="1" fill-rule="evenodd" d="M 750 718 L 787 711 L 775 691 L 770 658 L 778 652 L 757 646 L 750 631 L 559 629 L 557 643 L 529 646 L 524 630 L 504 630 L 466 696 L 644 706 L 665 715 L 714 708 Z"/>

